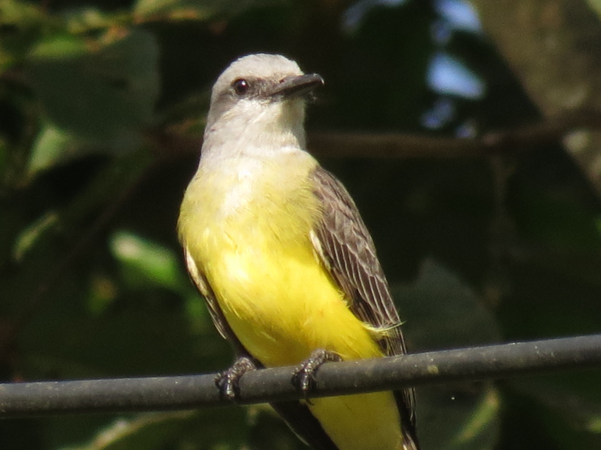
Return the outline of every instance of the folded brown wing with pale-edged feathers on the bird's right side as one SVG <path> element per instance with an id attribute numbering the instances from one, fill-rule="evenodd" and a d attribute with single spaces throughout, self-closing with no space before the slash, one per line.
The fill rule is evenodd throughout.
<path id="1" fill-rule="evenodd" d="M 332 277 L 350 299 L 350 308 L 359 319 L 386 329 L 378 344 L 386 355 L 406 353 L 397 309 L 376 256 L 371 235 L 346 188 L 323 167 L 313 172 L 315 195 L 323 203 L 323 217 L 314 230 L 316 251 Z M 415 424 L 413 389 L 399 392 L 401 415 Z"/>

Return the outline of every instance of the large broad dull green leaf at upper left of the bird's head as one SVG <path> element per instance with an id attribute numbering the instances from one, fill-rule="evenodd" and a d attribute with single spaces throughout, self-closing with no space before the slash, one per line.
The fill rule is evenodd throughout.
<path id="1" fill-rule="evenodd" d="M 158 48 L 141 29 L 95 41 L 53 37 L 31 53 L 28 72 L 49 120 L 105 148 L 139 144 L 159 95 Z"/>

